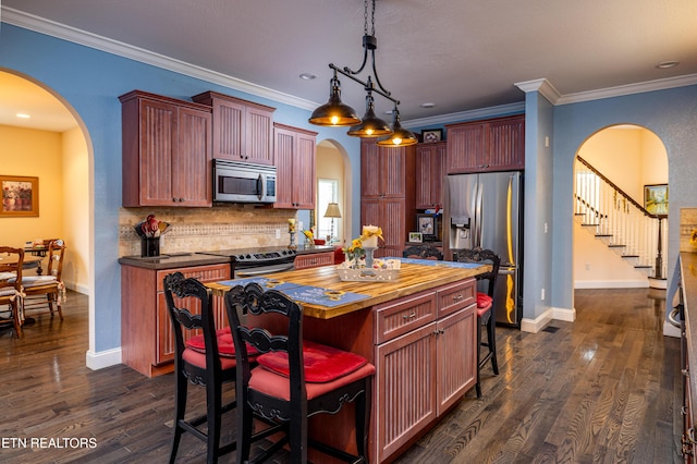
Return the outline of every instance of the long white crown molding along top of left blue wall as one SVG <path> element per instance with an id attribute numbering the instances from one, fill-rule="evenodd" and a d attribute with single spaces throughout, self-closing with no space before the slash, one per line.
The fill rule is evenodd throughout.
<path id="1" fill-rule="evenodd" d="M 262 87 L 260 85 L 242 81 L 201 66 L 196 66 L 184 61 L 174 60 L 160 53 L 155 53 L 119 40 L 113 40 L 75 27 L 66 26 L 12 8 L 2 7 L 0 14 L 3 23 L 12 24 L 13 26 L 19 26 L 74 44 L 84 45 L 85 47 L 106 51 L 107 53 L 117 54 L 140 63 L 150 64 L 152 66 L 184 74 L 189 77 L 210 82 L 212 84 L 219 84 L 246 94 L 256 95 L 258 97 L 268 98 L 273 101 L 279 101 L 310 111 L 319 105 L 314 101 L 297 98 L 282 91 Z"/>

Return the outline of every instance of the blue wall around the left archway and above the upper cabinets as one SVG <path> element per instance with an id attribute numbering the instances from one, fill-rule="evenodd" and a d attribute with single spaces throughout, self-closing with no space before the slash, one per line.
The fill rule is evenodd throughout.
<path id="1" fill-rule="evenodd" d="M 42 83 L 71 106 L 84 123 L 94 155 L 94 298 L 95 353 L 121 346 L 121 278 L 118 264 L 119 208 L 121 206 L 121 102 L 119 96 L 133 89 L 191 99 L 217 90 L 277 108 L 274 121 L 319 133 L 317 142 L 340 144 L 356 170 L 360 143 L 343 131 L 309 124 L 309 112 L 220 85 L 166 71 L 88 47 L 2 24 L 0 70 Z M 354 176 L 355 179 L 355 176 Z M 359 192 L 351 198 L 359 205 Z M 352 216 L 356 231 L 359 208 Z M 301 212 L 307 223 L 308 213 Z M 85 220 L 87 222 L 87 220 Z M 86 224 L 85 224 L 86 225 Z"/>

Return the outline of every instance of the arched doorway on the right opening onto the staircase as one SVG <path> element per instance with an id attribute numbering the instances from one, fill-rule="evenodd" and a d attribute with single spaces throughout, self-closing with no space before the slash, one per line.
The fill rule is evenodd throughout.
<path id="1" fill-rule="evenodd" d="M 668 185 L 661 139 L 638 125 L 604 127 L 580 146 L 574 171 L 574 288 L 665 288 L 668 221 L 645 215 L 647 187 Z"/>

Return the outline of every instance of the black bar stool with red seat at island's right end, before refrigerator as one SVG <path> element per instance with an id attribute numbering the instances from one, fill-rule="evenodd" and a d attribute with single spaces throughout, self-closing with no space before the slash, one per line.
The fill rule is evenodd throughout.
<path id="1" fill-rule="evenodd" d="M 501 266 L 501 257 L 491 249 L 473 248 L 458 249 L 453 252 L 453 260 L 460 262 L 482 262 L 490 264 L 491 271 L 477 276 L 477 280 L 487 280 L 487 293 L 477 292 L 477 398 L 481 398 L 481 368 L 491 361 L 491 368 L 496 376 L 499 375 L 499 363 L 497 361 L 497 338 L 496 338 L 496 318 L 493 315 L 493 295 L 496 290 L 497 277 L 499 276 L 499 267 Z M 481 328 L 487 328 L 487 341 L 481 341 Z M 481 347 L 487 349 L 487 353 L 481 357 Z"/>

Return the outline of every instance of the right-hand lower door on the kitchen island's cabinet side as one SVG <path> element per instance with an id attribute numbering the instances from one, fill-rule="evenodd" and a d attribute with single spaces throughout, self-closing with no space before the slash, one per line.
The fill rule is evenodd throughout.
<path id="1" fill-rule="evenodd" d="M 438 415 L 477 381 L 476 305 L 438 321 Z"/>

